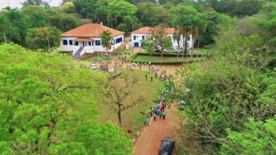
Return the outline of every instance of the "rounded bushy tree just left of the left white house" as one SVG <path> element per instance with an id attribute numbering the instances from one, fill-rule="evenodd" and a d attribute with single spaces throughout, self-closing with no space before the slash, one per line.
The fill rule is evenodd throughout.
<path id="1" fill-rule="evenodd" d="M 59 45 L 60 34 L 61 31 L 55 27 L 30 28 L 26 35 L 26 44 L 31 50 L 43 49 L 47 52 L 49 48 Z"/>

